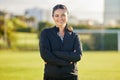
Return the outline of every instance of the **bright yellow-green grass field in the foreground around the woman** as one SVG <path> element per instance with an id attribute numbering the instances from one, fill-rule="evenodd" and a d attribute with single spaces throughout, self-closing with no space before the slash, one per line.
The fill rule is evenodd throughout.
<path id="1" fill-rule="evenodd" d="M 83 52 L 78 63 L 80 80 L 120 80 L 120 53 Z M 0 51 L 0 80 L 43 80 L 39 51 Z"/>

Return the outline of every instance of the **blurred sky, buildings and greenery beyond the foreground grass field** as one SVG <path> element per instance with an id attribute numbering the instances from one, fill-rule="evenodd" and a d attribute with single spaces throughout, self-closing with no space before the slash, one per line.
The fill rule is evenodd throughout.
<path id="1" fill-rule="evenodd" d="M 60 3 L 84 50 L 120 50 L 119 0 L 0 0 L 0 49 L 38 50 L 39 34 L 54 25 L 52 8 Z"/>

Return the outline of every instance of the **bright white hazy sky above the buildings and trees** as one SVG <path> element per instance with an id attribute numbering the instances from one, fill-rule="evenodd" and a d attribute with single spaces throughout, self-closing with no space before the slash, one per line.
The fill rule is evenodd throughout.
<path id="1" fill-rule="evenodd" d="M 43 8 L 52 11 L 56 4 L 67 6 L 69 13 L 79 20 L 103 21 L 104 0 L 0 0 L 0 10 L 24 14 L 26 9 Z"/>

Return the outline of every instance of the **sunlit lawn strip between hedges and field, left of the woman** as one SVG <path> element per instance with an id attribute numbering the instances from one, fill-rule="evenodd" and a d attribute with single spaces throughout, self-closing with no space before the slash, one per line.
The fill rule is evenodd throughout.
<path id="1" fill-rule="evenodd" d="M 39 50 L 39 39 L 37 33 L 15 32 L 12 48 L 19 50 Z M 4 39 L 0 38 L 0 48 L 7 48 Z"/>

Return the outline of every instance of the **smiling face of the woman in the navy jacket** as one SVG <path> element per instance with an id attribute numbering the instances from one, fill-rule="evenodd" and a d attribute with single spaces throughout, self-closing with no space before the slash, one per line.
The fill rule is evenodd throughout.
<path id="1" fill-rule="evenodd" d="M 68 21 L 68 14 L 65 9 L 57 9 L 54 11 L 53 20 L 57 27 L 65 26 Z"/>

